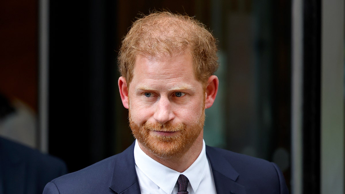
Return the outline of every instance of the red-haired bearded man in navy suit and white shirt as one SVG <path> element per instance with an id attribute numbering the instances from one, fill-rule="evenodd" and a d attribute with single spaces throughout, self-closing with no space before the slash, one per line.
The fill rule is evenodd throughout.
<path id="1" fill-rule="evenodd" d="M 215 42 L 188 16 L 155 12 L 134 22 L 118 85 L 135 143 L 43 193 L 288 193 L 275 164 L 204 143 L 205 108 L 218 90 Z"/>

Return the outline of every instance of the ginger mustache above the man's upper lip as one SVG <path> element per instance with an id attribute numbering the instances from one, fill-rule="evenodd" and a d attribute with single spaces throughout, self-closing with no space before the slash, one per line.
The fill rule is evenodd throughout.
<path id="1" fill-rule="evenodd" d="M 149 123 L 146 122 L 144 123 L 143 127 L 146 130 L 150 130 L 150 131 L 159 131 L 159 132 L 177 132 L 177 131 L 181 131 L 184 130 L 186 128 L 186 125 L 183 123 L 172 123 L 172 122 L 168 122 L 168 123 Z"/>

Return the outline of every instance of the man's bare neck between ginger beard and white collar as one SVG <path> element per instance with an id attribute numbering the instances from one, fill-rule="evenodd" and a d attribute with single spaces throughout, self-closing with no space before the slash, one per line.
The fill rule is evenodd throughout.
<path id="1" fill-rule="evenodd" d="M 177 172 L 184 172 L 186 169 L 194 163 L 194 161 L 198 158 L 203 149 L 203 132 L 195 140 L 194 144 L 188 149 L 186 153 L 179 157 L 172 157 L 172 158 L 160 158 L 156 155 L 149 152 L 144 146 L 142 146 L 139 142 L 140 149 L 150 156 L 155 161 L 161 163 L 164 166 L 167 166 Z"/>

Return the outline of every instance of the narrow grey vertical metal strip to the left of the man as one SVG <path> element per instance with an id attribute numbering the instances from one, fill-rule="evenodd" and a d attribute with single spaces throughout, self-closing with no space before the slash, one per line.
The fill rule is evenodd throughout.
<path id="1" fill-rule="evenodd" d="M 39 148 L 48 152 L 49 0 L 39 0 Z"/>

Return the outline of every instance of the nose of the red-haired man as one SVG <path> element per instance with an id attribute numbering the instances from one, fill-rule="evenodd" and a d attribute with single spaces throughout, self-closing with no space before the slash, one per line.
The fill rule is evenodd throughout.
<path id="1" fill-rule="evenodd" d="M 169 120 L 175 118 L 175 115 L 172 111 L 172 104 L 166 97 L 160 97 L 156 102 L 156 110 L 154 114 L 154 119 L 160 124 L 164 124 Z"/>

